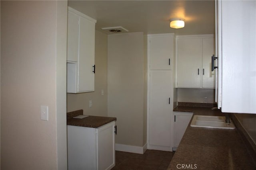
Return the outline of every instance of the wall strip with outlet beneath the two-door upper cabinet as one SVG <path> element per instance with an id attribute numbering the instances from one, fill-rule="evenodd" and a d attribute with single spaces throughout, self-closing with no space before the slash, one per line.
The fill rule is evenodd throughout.
<path id="1" fill-rule="evenodd" d="M 214 89 L 178 88 L 177 96 L 178 102 L 205 103 L 207 97 L 207 103 L 215 103 Z"/>

